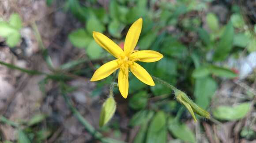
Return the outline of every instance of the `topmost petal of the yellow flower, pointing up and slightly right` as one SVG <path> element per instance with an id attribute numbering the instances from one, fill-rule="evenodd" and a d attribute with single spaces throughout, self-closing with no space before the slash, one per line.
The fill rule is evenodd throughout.
<path id="1" fill-rule="evenodd" d="M 126 55 L 130 54 L 134 50 L 139 39 L 141 28 L 142 28 L 142 18 L 139 18 L 137 21 L 135 21 L 132 24 L 132 26 L 128 30 L 128 33 L 124 41 L 124 53 Z"/>

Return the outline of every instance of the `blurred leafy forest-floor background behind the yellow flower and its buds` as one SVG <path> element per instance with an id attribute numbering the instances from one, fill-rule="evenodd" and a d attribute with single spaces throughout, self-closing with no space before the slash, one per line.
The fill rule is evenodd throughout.
<path id="1" fill-rule="evenodd" d="M 194 122 L 172 91 L 134 75 L 99 127 L 113 59 L 92 31 L 120 47 L 143 18 L 139 63 L 181 89 L 211 119 Z M 0 0 L 1 143 L 256 143 L 255 0 Z"/>

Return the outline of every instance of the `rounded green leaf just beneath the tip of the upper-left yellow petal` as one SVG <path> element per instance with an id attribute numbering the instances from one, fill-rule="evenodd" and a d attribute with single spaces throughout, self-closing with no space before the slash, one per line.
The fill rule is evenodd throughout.
<path id="1" fill-rule="evenodd" d="M 102 57 L 103 49 L 94 40 L 92 40 L 88 45 L 86 52 L 90 59 L 98 59 Z"/>

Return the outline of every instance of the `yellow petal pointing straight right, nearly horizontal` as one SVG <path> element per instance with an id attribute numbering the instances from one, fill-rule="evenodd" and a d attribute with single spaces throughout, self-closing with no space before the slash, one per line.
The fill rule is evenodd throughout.
<path id="1" fill-rule="evenodd" d="M 137 59 L 142 62 L 155 62 L 162 59 L 163 55 L 154 50 L 139 50 L 131 54 L 130 58 Z"/>

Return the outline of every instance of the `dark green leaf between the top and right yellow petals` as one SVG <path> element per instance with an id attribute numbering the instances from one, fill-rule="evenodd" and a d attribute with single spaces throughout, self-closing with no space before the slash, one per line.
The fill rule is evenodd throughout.
<path id="1" fill-rule="evenodd" d="M 147 50 L 150 48 L 152 43 L 155 41 L 157 37 L 157 31 L 150 31 L 145 36 L 143 36 L 141 39 L 139 39 L 139 50 Z"/>

